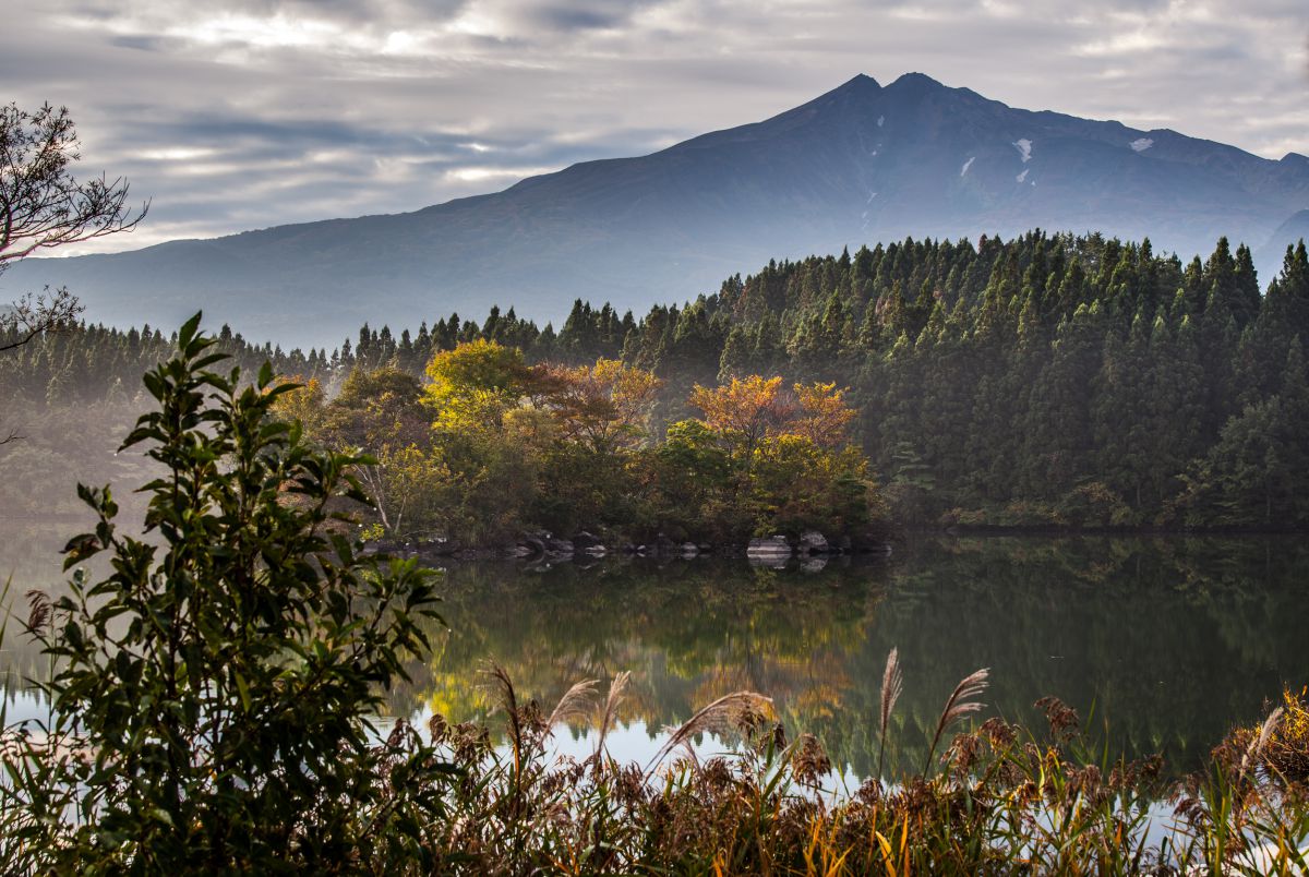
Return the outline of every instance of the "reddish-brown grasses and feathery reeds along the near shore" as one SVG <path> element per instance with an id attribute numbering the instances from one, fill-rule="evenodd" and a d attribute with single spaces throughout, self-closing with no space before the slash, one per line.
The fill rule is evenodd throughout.
<path id="1" fill-rule="evenodd" d="M 427 826 L 439 869 L 469 874 L 690 873 L 1302 873 L 1309 844 L 1304 772 L 1279 770 L 1274 741 L 1289 706 L 1257 729 L 1237 729 L 1206 770 L 1161 779 L 1162 761 L 1110 761 L 1089 751 L 1077 716 L 1039 702 L 1041 734 L 997 719 L 956 733 L 918 775 L 868 778 L 823 791 L 833 766 L 809 734 L 788 741 L 771 702 L 738 691 L 669 729 L 651 764 L 618 764 L 605 751 L 622 674 L 594 706 L 596 746 L 575 761 L 552 754 L 555 717 L 584 713 L 594 686 L 575 686 L 546 713 L 496 674 L 509 745 L 484 726 L 436 716 L 432 741 L 458 767 L 433 783 L 450 818 Z M 986 671 L 946 698 L 929 751 L 977 712 Z M 898 654 L 876 717 L 886 743 L 901 691 Z M 1299 698 L 1288 696 L 1304 711 Z M 1305 713 L 1309 715 L 1309 713 Z M 1309 724 L 1306 724 L 1309 726 Z M 732 729 L 732 755 L 698 761 L 687 742 Z M 1279 737 L 1280 734 L 1280 737 Z M 929 757 L 931 758 L 931 757 Z M 826 784 L 830 788 L 830 783 Z"/>

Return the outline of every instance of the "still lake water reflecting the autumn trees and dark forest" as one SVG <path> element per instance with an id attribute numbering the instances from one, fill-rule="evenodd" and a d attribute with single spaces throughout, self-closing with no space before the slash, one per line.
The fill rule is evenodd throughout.
<path id="1" fill-rule="evenodd" d="M 1077 709 L 1088 745 L 1161 753 L 1195 767 L 1234 723 L 1253 724 L 1283 686 L 1309 682 L 1309 546 L 1296 538 L 915 537 L 888 560 L 822 568 L 751 567 L 699 558 L 445 571 L 435 654 L 390 692 L 391 715 L 486 719 L 488 658 L 521 700 L 548 709 L 580 679 L 603 691 L 632 674 L 610 737 L 618 758 L 645 759 L 661 729 L 737 690 L 774 698 L 795 734 L 816 734 L 833 761 L 867 776 L 886 654 L 899 648 L 905 694 L 889 761 L 922 767 L 954 683 L 991 668 L 988 709 L 1043 729 L 1033 703 Z M 42 571 L 31 543 L 0 550 L 20 580 Z M 7 564 L 7 565 L 5 565 Z M 56 567 L 51 565 L 51 569 Z M 34 584 L 46 584 L 37 581 Z M 10 720 L 45 706 L 22 691 L 39 674 L 30 645 L 7 637 L 0 671 Z M 583 726 L 564 751 L 590 751 Z M 702 740 L 713 751 L 730 741 Z"/>

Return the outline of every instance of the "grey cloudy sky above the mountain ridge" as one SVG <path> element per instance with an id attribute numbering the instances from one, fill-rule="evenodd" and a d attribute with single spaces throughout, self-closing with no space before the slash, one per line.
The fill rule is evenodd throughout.
<path id="1" fill-rule="evenodd" d="M 855 73 L 1309 153 L 1305 0 L 7 7 L 0 99 L 67 105 L 82 169 L 153 199 L 97 250 L 418 209 L 759 120 Z"/>

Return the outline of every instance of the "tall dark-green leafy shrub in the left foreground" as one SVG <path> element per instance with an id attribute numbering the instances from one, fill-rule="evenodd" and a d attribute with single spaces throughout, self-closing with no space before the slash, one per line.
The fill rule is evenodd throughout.
<path id="1" fill-rule="evenodd" d="M 429 573 L 359 558 L 340 530 L 364 503 L 352 466 L 270 418 L 291 385 L 207 370 L 182 327 L 145 374 L 156 408 L 123 448 L 166 474 L 149 542 L 123 535 L 109 488 L 79 488 L 94 531 L 65 568 L 107 552 L 103 581 L 31 594 L 27 631 L 55 661 L 50 728 L 5 737 L 7 873 L 355 870 L 360 851 L 421 861 L 406 839 L 441 802 L 410 795 L 416 747 L 374 747 L 368 717 L 427 647 Z M 153 534 L 153 535 L 149 535 Z"/>

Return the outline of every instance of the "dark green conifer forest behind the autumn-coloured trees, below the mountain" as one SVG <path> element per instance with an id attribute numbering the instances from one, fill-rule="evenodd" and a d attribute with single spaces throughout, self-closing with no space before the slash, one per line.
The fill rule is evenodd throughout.
<path id="1" fill-rule="evenodd" d="M 224 332 L 330 395 L 356 369 L 419 376 L 459 343 L 525 363 L 618 359 L 661 381 L 652 435 L 694 414 L 695 385 L 779 374 L 834 381 L 857 441 L 911 522 L 1073 526 L 1309 525 L 1309 257 L 1266 289 L 1219 241 L 1182 263 L 1140 243 L 1033 232 L 912 241 L 770 263 L 643 318 L 576 302 L 556 331 L 493 308 L 339 348 L 283 352 Z M 86 327 L 0 363 L 25 398 L 134 386 L 158 332 Z"/>

